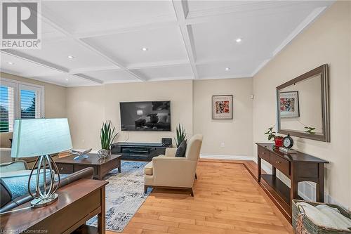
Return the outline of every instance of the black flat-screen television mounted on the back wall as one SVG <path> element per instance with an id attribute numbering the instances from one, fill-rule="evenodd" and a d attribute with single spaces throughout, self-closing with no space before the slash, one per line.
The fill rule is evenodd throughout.
<path id="1" fill-rule="evenodd" d="M 119 103 L 121 131 L 171 131 L 171 101 Z"/>

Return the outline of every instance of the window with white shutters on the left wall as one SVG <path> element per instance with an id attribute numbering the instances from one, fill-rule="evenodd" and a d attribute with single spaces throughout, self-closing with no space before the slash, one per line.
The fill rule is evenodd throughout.
<path id="1" fill-rule="evenodd" d="M 44 117 L 44 87 L 1 78 L 0 132 L 13 131 L 16 118 Z"/>

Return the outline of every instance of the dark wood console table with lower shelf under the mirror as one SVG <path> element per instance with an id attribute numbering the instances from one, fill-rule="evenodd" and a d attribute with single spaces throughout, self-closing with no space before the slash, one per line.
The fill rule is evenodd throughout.
<path id="1" fill-rule="evenodd" d="M 291 222 L 291 200 L 301 199 L 298 196 L 298 182 L 317 183 L 317 202 L 324 202 L 324 164 L 328 163 L 327 161 L 303 152 L 284 154 L 279 149 L 274 149 L 272 143 L 256 143 L 256 145 L 258 145 L 258 183 L 286 219 Z M 262 174 L 261 160 L 272 165 L 272 175 Z M 277 169 L 290 178 L 290 188 L 276 176 Z"/>

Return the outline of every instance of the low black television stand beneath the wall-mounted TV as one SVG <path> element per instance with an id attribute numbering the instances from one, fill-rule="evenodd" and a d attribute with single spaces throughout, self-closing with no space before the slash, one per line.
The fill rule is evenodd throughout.
<path id="1" fill-rule="evenodd" d="M 152 161 L 152 157 L 164 155 L 167 147 L 161 143 L 117 142 L 111 145 L 111 153 L 122 155 L 121 160 Z"/>

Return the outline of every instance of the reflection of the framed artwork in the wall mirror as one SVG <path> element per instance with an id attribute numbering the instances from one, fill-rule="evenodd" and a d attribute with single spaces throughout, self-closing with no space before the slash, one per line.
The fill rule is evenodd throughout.
<path id="1" fill-rule="evenodd" d="M 300 117 L 298 91 L 280 92 L 280 117 Z"/>

